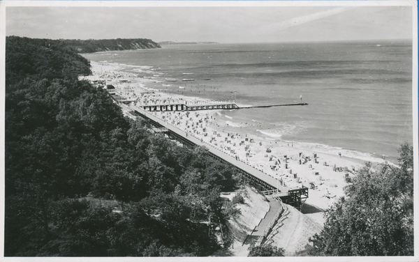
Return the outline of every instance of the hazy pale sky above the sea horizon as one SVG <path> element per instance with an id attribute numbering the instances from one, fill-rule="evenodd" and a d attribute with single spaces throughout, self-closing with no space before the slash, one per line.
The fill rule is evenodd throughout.
<path id="1" fill-rule="evenodd" d="M 412 38 L 410 6 L 6 7 L 6 35 L 253 43 Z"/>

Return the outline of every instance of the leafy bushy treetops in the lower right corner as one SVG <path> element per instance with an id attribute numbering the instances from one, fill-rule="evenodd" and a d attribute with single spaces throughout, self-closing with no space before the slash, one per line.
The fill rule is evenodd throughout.
<path id="1" fill-rule="evenodd" d="M 413 256 L 413 148 L 402 144 L 399 167 L 367 163 L 346 197 L 311 238 L 315 256 Z"/>

